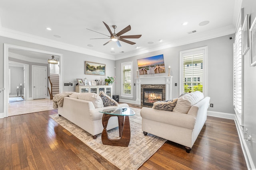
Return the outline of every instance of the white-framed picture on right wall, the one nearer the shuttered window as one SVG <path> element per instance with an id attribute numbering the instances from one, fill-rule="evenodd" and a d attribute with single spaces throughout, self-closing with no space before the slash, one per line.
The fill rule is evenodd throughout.
<path id="1" fill-rule="evenodd" d="M 246 15 L 244 19 L 244 24 L 242 27 L 242 53 L 246 54 L 248 49 L 250 48 L 250 23 L 249 23 L 249 14 Z"/>

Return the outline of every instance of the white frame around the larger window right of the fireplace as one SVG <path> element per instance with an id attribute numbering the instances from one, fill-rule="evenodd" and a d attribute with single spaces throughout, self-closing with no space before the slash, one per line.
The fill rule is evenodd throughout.
<path id="1" fill-rule="evenodd" d="M 204 96 L 207 96 L 207 87 L 208 87 L 208 79 L 207 79 L 207 72 L 208 72 L 208 64 L 207 64 L 207 56 L 208 56 L 208 47 L 199 47 L 195 49 L 189 49 L 189 50 L 184 50 L 180 51 L 180 94 L 183 93 L 184 91 L 184 86 L 183 86 L 183 56 L 187 55 L 194 55 L 198 54 L 198 52 L 203 53 L 203 94 Z"/>

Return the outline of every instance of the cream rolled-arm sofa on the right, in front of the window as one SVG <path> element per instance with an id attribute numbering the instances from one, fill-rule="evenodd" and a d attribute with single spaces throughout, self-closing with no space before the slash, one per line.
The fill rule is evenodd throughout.
<path id="1" fill-rule="evenodd" d="M 179 100 L 182 99 L 178 99 L 175 107 L 179 104 Z M 186 152 L 189 153 L 206 121 L 210 98 L 201 96 L 199 100 L 199 102 L 192 101 L 194 102 L 192 106 L 184 106 L 184 103 L 180 102 L 178 107 L 180 109 L 186 107 L 187 113 L 177 112 L 175 107 L 173 111 L 143 107 L 140 115 L 144 135 L 150 133 L 184 145 Z"/>

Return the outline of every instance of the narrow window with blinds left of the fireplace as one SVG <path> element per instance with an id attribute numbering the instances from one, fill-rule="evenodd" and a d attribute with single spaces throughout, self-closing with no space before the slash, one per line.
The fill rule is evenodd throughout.
<path id="1" fill-rule="evenodd" d="M 132 97 L 132 62 L 122 63 L 122 97 Z"/>

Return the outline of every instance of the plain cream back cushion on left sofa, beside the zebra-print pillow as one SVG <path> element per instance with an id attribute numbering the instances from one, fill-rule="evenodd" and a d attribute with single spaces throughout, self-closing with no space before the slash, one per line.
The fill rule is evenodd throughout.
<path id="1" fill-rule="evenodd" d="M 78 99 L 91 101 L 95 108 L 104 107 L 100 96 L 96 93 L 80 93 Z"/>

